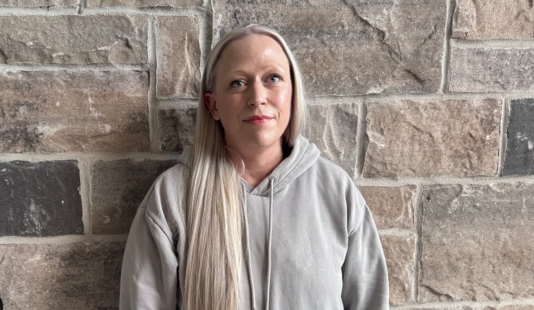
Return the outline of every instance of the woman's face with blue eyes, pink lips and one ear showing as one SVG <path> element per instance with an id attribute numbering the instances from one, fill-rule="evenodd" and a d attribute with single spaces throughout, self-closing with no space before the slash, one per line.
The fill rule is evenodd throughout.
<path id="1" fill-rule="evenodd" d="M 204 101 L 236 151 L 280 148 L 288 127 L 292 81 L 288 57 L 270 36 L 230 42 L 214 69 L 214 89 Z"/>

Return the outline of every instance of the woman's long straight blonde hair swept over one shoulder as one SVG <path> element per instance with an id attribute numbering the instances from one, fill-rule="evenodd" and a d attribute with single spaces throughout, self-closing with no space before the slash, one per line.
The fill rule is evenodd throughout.
<path id="1" fill-rule="evenodd" d="M 202 75 L 196 116 L 196 136 L 190 158 L 186 192 L 186 287 L 188 310 L 236 310 L 240 305 L 243 199 L 240 175 L 227 156 L 223 127 L 209 113 L 204 94 L 214 87 L 215 66 L 227 45 L 251 35 L 279 42 L 290 62 L 292 107 L 283 143 L 293 146 L 305 127 L 306 106 L 301 71 L 288 44 L 277 31 L 259 25 L 226 34 L 209 53 Z"/>

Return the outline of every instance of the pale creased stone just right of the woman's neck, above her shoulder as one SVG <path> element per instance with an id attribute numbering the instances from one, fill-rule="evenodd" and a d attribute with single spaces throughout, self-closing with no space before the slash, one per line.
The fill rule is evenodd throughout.
<path id="1" fill-rule="evenodd" d="M 356 175 L 357 125 L 355 104 L 309 105 L 307 137 L 317 144 L 322 156 L 340 165 L 351 177 Z"/>

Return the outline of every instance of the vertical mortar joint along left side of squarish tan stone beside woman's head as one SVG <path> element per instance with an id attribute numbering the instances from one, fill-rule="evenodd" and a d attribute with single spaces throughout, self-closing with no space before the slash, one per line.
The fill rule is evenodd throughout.
<path id="1" fill-rule="evenodd" d="M 149 135 L 151 151 L 159 151 L 158 141 L 160 131 L 157 125 L 157 21 L 154 16 L 149 17 L 149 37 L 148 37 L 148 56 L 149 56 L 149 90 L 147 105 L 149 109 Z"/>

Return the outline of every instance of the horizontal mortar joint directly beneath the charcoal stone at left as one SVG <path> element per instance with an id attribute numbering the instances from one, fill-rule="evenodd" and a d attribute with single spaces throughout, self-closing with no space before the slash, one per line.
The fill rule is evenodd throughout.
<path id="1" fill-rule="evenodd" d="M 128 234 L 60 235 L 54 237 L 0 237 L 0 244 L 72 244 L 76 242 L 124 242 Z"/>

